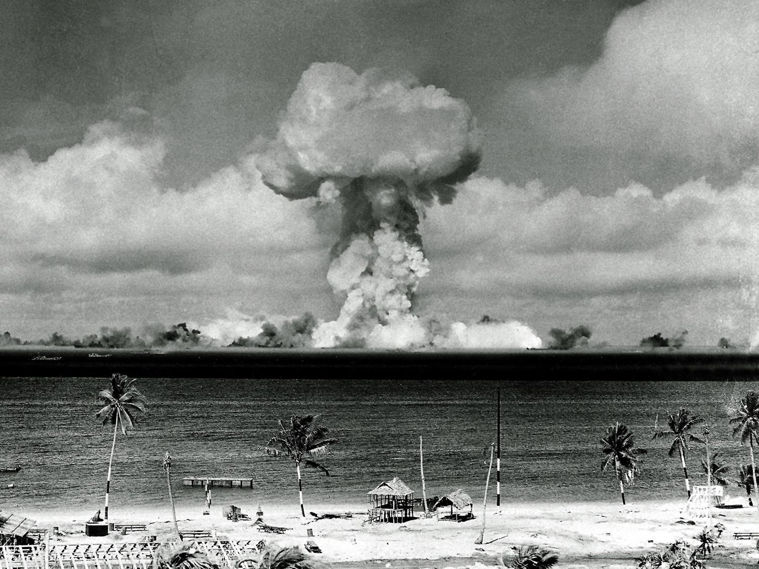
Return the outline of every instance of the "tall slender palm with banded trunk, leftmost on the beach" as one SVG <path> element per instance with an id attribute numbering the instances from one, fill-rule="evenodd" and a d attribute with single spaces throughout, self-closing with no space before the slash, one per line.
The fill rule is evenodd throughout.
<path id="1" fill-rule="evenodd" d="M 135 416 L 145 412 L 145 398 L 134 387 L 135 379 L 114 373 L 111 376 L 111 386 L 99 392 L 96 398 L 97 404 L 102 404 L 101 410 L 95 413 L 95 417 L 102 420 L 102 424 L 113 425 L 113 442 L 111 443 L 111 458 L 108 461 L 108 476 L 106 478 L 106 514 L 108 520 L 108 495 L 111 492 L 111 467 L 113 466 L 113 451 L 116 448 L 116 432 L 121 423 L 121 432 L 127 434 L 127 429 L 134 429 L 137 425 Z"/>

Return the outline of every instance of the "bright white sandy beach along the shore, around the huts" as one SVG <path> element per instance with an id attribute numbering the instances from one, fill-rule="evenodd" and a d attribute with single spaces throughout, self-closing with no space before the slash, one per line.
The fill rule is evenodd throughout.
<path id="1" fill-rule="evenodd" d="M 740 502 L 741 498 L 733 498 Z M 745 503 L 745 498 L 743 498 Z M 282 535 L 263 533 L 253 525 L 258 502 L 237 503 L 251 520 L 232 522 L 222 515 L 224 505 L 213 505 L 209 515 L 200 508 L 178 508 L 180 530 L 212 530 L 219 539 L 266 539 L 282 545 L 304 545 L 313 539 L 322 549 L 314 554 L 320 560 L 339 567 L 492 567 L 505 553 L 508 565 L 512 547 L 540 545 L 557 552 L 559 566 L 634 567 L 635 557 L 658 551 L 678 539 L 696 545 L 694 537 L 705 523 L 713 527 L 722 523 L 724 533 L 707 567 L 744 567 L 756 564 L 756 543 L 752 539 L 734 539 L 735 532 L 755 531 L 759 512 L 745 505 L 741 509 L 712 510 L 706 522 L 695 520 L 685 512 L 685 501 L 669 503 L 641 501 L 622 506 L 619 503 L 502 503 L 500 510 L 488 505 L 483 544 L 474 541 L 480 532 L 481 505 L 475 508 L 477 519 L 455 523 L 420 517 L 406 523 L 370 525 L 367 508 L 361 504 L 308 505 L 318 514 L 345 514 L 348 519 L 303 520 L 298 505 L 272 505 L 261 502 L 263 519 L 270 525 L 291 528 Z M 145 523 L 147 532 L 93 538 L 85 536 L 83 526 L 93 513 L 71 511 L 25 511 L 37 520 L 36 527 L 58 527 L 58 543 L 137 542 L 146 535 L 158 541 L 173 535 L 171 509 L 133 511 L 112 505 L 111 522 Z M 307 530 L 313 538 L 307 538 Z"/>

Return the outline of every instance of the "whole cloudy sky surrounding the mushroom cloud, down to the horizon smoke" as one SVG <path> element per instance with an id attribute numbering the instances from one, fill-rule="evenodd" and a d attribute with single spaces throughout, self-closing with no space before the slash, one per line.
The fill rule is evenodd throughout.
<path id="1" fill-rule="evenodd" d="M 256 168 L 330 61 L 409 71 L 483 133 L 424 212 L 420 316 L 755 335 L 755 0 L 5 0 L 0 332 L 334 319 L 338 213 Z"/>

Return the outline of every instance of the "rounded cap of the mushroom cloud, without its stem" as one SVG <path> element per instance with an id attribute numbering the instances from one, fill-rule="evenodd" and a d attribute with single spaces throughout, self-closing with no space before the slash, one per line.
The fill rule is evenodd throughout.
<path id="1" fill-rule="evenodd" d="M 293 199 L 361 177 L 454 184 L 479 165 L 481 142 L 468 105 L 444 89 L 408 73 L 314 63 L 258 168 Z"/>

